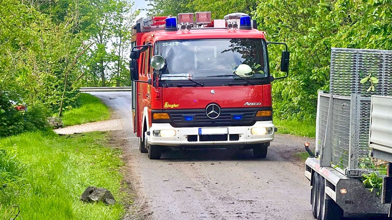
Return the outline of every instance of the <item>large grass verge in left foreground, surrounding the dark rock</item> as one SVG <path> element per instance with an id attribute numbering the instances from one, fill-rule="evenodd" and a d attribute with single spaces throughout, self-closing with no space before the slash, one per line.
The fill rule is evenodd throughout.
<path id="1" fill-rule="evenodd" d="M 122 151 L 104 145 L 103 132 L 27 132 L 0 139 L 0 219 L 12 204 L 20 206 L 21 219 L 121 219 Z M 117 203 L 80 201 L 91 185 L 110 190 Z"/>

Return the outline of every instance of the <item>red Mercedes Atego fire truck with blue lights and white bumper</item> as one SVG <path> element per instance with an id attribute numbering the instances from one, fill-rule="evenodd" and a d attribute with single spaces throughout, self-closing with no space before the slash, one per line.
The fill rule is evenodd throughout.
<path id="1" fill-rule="evenodd" d="M 288 76 L 290 53 L 256 27 L 243 13 L 214 21 L 210 12 L 197 12 L 136 22 L 130 70 L 140 152 L 159 159 L 167 148 L 218 147 L 266 157 L 276 131 L 271 82 Z M 270 44 L 285 46 L 283 77 L 270 75 Z"/>

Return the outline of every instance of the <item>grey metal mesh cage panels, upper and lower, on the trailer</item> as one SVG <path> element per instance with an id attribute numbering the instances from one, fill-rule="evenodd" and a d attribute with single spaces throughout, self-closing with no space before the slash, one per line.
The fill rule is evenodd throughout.
<path id="1" fill-rule="evenodd" d="M 367 91 L 371 75 L 379 82 Z M 371 95 L 392 96 L 392 51 L 332 48 L 329 94 L 319 92 L 316 149 L 328 163 L 347 170 L 369 169 Z"/>

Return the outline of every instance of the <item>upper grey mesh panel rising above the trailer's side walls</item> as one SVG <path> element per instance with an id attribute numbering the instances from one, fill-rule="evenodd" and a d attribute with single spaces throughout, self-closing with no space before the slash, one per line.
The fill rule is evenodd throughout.
<path id="1" fill-rule="evenodd" d="M 379 83 L 374 91 L 361 84 L 363 77 L 371 74 Z M 392 50 L 332 48 L 330 94 L 350 96 L 352 92 L 362 97 L 392 95 Z"/>

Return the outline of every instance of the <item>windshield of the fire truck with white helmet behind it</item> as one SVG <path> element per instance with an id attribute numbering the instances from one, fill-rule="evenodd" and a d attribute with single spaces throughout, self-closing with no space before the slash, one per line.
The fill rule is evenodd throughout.
<path id="1" fill-rule="evenodd" d="M 161 80 L 237 78 L 236 68 L 250 66 L 248 79 L 268 76 L 261 39 L 201 39 L 159 41 L 155 54 L 167 62 Z"/>

